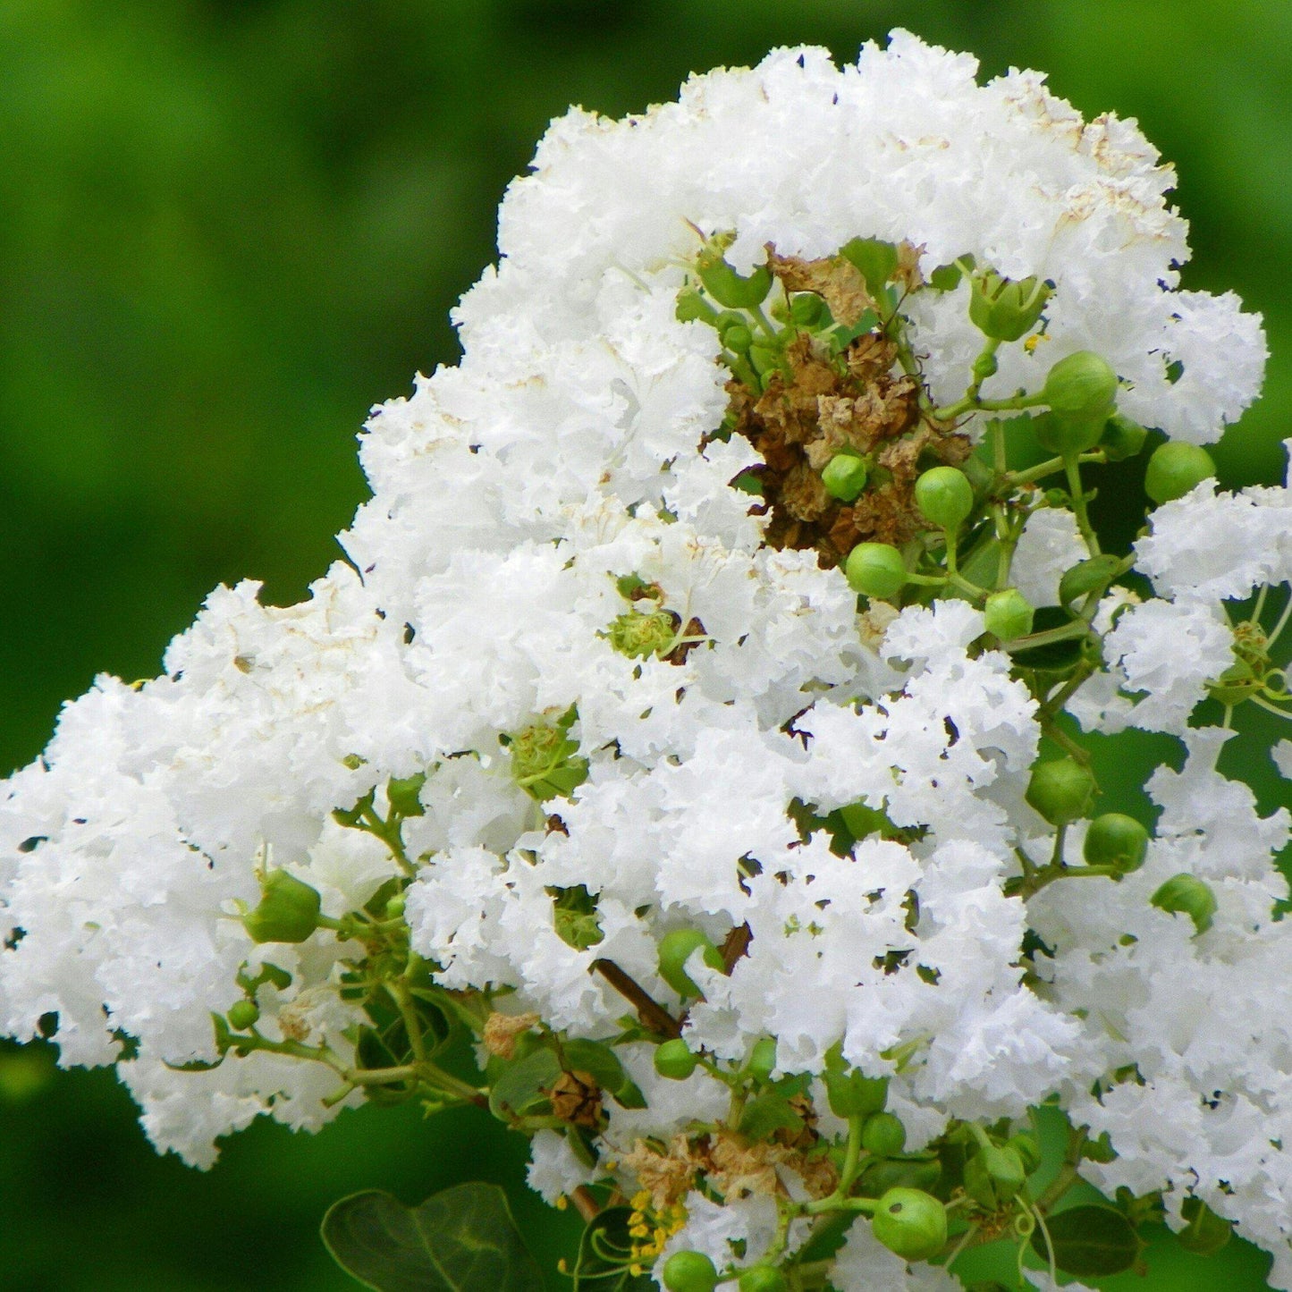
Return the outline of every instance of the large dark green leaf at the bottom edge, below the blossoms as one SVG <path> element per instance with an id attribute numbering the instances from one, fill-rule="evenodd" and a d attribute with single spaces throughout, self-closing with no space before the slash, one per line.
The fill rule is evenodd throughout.
<path id="1" fill-rule="evenodd" d="M 455 1185 L 420 1207 L 371 1189 L 333 1203 L 322 1235 L 373 1292 L 543 1292 L 497 1185 Z"/>

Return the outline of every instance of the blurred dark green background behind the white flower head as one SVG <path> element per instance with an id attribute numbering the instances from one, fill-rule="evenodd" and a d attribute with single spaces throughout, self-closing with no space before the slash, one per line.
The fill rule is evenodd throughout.
<path id="1" fill-rule="evenodd" d="M 1275 482 L 1292 432 L 1287 0 L 4 0 L 0 5 L 0 771 L 98 671 L 159 668 L 220 581 L 301 596 L 363 499 L 354 433 L 452 363 L 447 311 L 549 118 L 693 70 L 890 26 L 1138 116 L 1180 168 L 1190 287 L 1265 313 L 1264 403 L 1217 457 Z M 1003 200 L 1008 195 L 1003 194 Z M 1154 749 L 1141 753 L 1151 758 Z M 1287 798 L 1253 765 L 1262 804 Z M 159 1159 L 103 1072 L 0 1053 L 6 1292 L 328 1292 L 329 1202 L 519 1178 L 481 1120 L 258 1125 L 209 1174 Z M 545 1264 L 572 1224 L 513 1190 Z M 1231 1244 L 1109 1287 L 1264 1287 Z M 553 1275 L 553 1287 L 563 1280 Z"/>

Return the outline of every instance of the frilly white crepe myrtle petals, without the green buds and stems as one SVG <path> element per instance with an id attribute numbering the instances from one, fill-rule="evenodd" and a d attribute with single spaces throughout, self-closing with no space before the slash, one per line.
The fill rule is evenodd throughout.
<path id="1" fill-rule="evenodd" d="M 1111 1137 L 1097 1182 L 1164 1190 L 1173 1217 L 1204 1199 L 1292 1287 L 1292 939 L 1271 915 L 1288 814 L 1262 819 L 1216 771 L 1231 733 L 1189 726 L 1243 658 L 1224 603 L 1292 576 L 1292 494 L 1208 482 L 1152 514 L 1136 562 L 1156 596 L 1106 593 L 1105 667 L 1068 707 L 1087 730 L 1180 736 L 1182 769 L 1149 786 L 1162 817 L 1141 870 L 1025 898 L 1021 866 L 1043 867 L 1054 842 L 1025 800 L 1035 690 L 983 647 L 972 601 L 859 614 L 841 570 L 765 543 L 757 500 L 731 487 L 760 455 L 714 437 L 718 333 L 677 318 L 696 227 L 734 231 L 739 270 L 766 243 L 811 258 L 858 236 L 910 243 L 925 276 L 973 255 L 1054 284 L 1041 342 L 1003 349 L 991 391 L 1037 390 L 1057 359 L 1093 350 L 1123 412 L 1217 439 L 1255 398 L 1264 340 L 1233 296 L 1176 289 L 1172 172 L 1133 123 L 1085 124 L 1032 72 L 978 85 L 975 71 L 895 34 L 855 67 L 780 50 L 640 118 L 557 121 L 504 202 L 497 269 L 459 309 L 461 364 L 368 422 L 373 497 L 341 535 L 348 561 L 289 609 L 258 605 L 255 584 L 217 590 L 164 676 L 99 678 L 5 784 L 3 1030 L 56 1028 L 66 1065 L 121 1058 L 152 1141 L 199 1165 L 260 1114 L 318 1127 L 362 1087 L 328 1098 L 337 1072 L 291 1045 L 354 1062 L 353 946 L 327 926 L 255 942 L 242 912 L 271 870 L 307 882 L 333 922 L 402 881 L 382 840 L 333 813 L 372 791 L 380 818 L 391 778 L 425 774 L 424 814 L 403 820 L 403 901 L 441 987 L 606 1040 L 633 1005 L 598 964 L 682 1017 L 660 941 L 696 929 L 724 947 L 735 930 L 722 969 L 686 964 L 702 995 L 685 1039 L 711 1065 L 773 1036 L 778 1072 L 817 1079 L 840 1047 L 890 1076 L 916 1147 L 948 1119 L 1019 1119 L 1058 1096 Z M 966 280 L 911 297 L 935 404 L 960 398 L 982 349 L 968 298 Z M 1014 581 L 1053 606 L 1087 552 L 1068 512 L 1034 516 Z M 672 649 L 616 649 L 612 625 L 641 605 L 668 612 Z M 583 775 L 540 806 L 514 742 L 562 716 Z M 862 801 L 885 829 L 850 848 L 804 824 Z M 1181 872 L 1216 895 L 1205 932 L 1151 901 Z M 581 939 L 554 917 L 580 889 Z M 1025 960 L 1027 943 L 1043 951 Z M 270 1045 L 216 1063 L 211 1014 L 245 997 L 239 975 L 256 979 Z M 627 1102 L 645 1106 L 605 1101 L 598 1165 L 537 1134 L 536 1189 L 554 1199 L 618 1169 L 632 1194 L 612 1164 L 725 1115 L 708 1067 L 665 1080 L 654 1050 L 615 1047 L 642 1094 Z M 817 1103 L 818 1133 L 841 1133 Z M 778 1178 L 805 1187 L 801 1164 Z M 752 1258 L 773 1242 L 756 1187 L 682 1202 L 669 1252 L 721 1267 L 733 1243 Z M 858 1226 L 832 1278 L 849 1292 L 946 1276 L 907 1275 Z"/>

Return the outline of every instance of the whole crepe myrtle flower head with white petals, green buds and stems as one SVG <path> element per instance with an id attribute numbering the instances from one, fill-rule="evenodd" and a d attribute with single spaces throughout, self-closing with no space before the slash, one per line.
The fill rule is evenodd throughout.
<path id="1" fill-rule="evenodd" d="M 1134 123 L 975 71 L 897 32 L 556 121 L 346 561 L 218 589 L 5 783 L 4 1030 L 198 1165 L 487 1106 L 589 1278 L 932 1289 L 1006 1240 L 1056 1286 L 1165 1214 L 1292 1287 L 1289 822 L 1216 770 L 1286 712 L 1292 492 L 1198 447 L 1260 322 L 1178 289 Z M 1182 747 L 1151 839 L 1083 745 L 1127 725 Z M 1079 1173 L 1116 1205 L 1056 1209 Z"/>

